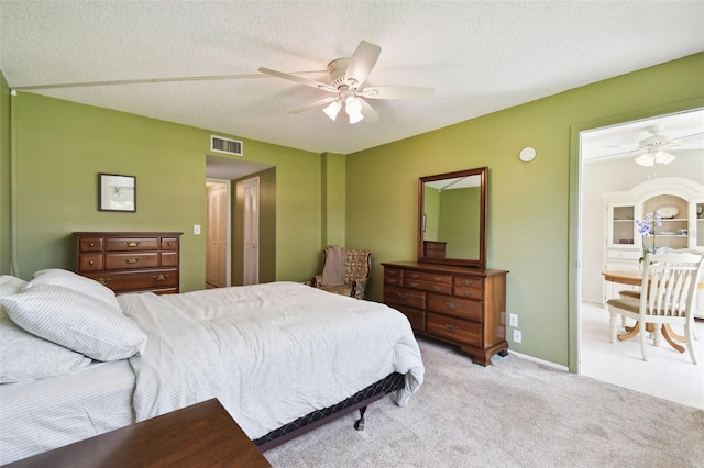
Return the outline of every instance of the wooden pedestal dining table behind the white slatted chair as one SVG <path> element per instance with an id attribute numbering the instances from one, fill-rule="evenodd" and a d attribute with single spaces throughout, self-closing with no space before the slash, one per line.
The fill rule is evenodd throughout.
<path id="1" fill-rule="evenodd" d="M 606 281 L 616 282 L 619 285 L 628 286 L 641 286 L 642 285 L 642 271 L 640 270 L 605 270 L 602 271 Z M 704 289 L 704 278 L 700 278 L 698 289 Z M 629 294 L 629 292 L 625 292 Z M 632 292 L 630 292 L 632 294 Z M 609 342 L 615 343 L 616 339 L 624 341 L 630 339 L 638 335 L 639 326 L 638 322 L 634 326 L 624 326 L 626 333 L 617 334 L 618 313 L 609 312 L 608 330 Z M 646 331 L 652 333 L 652 341 L 656 346 L 660 345 L 660 336 L 662 336 L 674 349 L 680 353 L 684 353 L 684 346 L 679 343 L 685 343 L 686 338 L 683 335 L 679 335 L 672 331 L 670 324 L 662 324 L 660 328 L 657 328 L 652 323 L 646 323 Z M 678 343 L 679 342 L 679 343 Z"/>

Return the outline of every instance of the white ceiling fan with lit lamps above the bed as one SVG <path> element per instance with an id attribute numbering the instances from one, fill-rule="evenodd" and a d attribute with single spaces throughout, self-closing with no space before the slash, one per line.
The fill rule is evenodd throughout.
<path id="1" fill-rule="evenodd" d="M 433 88 L 415 86 L 363 87 L 374 65 L 376 65 L 381 52 L 382 48 L 380 46 L 362 41 L 351 58 L 338 58 L 328 64 L 330 83 L 264 67 L 258 70 L 263 74 L 306 85 L 332 94 L 296 108 L 289 111 L 289 114 L 297 114 L 324 105 L 323 112 L 333 121 L 344 108 L 350 123 L 358 123 L 363 119 L 367 122 L 376 122 L 378 121 L 378 114 L 365 99 L 422 99 L 429 98 L 435 93 Z"/>

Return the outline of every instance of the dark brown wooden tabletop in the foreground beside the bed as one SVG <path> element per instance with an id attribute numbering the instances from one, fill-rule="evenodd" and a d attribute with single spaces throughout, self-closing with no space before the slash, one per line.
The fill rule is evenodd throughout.
<path id="1" fill-rule="evenodd" d="M 7 467 L 271 467 L 216 399 Z"/>

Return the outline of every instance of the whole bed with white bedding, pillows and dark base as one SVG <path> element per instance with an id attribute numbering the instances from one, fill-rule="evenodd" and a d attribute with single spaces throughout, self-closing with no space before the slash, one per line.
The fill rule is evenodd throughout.
<path id="1" fill-rule="evenodd" d="M 265 450 L 424 379 L 405 315 L 296 282 L 116 298 L 50 269 L 0 305 L 0 464 L 211 398 Z"/>

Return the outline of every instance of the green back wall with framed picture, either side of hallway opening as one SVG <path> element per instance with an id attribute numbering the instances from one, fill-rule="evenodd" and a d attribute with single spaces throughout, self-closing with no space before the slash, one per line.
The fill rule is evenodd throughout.
<path id="1" fill-rule="evenodd" d="M 73 231 L 179 231 L 182 291 L 205 287 L 205 236 L 193 225 L 206 224 L 211 132 L 32 93 L 14 102 L 19 276 L 74 268 Z M 320 156 L 239 140 L 245 159 L 276 167 L 275 277 L 307 279 L 320 248 Z M 136 213 L 98 211 L 98 172 L 136 177 Z"/>

